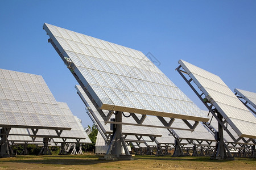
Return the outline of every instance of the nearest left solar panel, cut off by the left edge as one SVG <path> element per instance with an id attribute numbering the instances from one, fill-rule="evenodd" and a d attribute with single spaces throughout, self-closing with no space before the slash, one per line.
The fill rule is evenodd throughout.
<path id="1" fill-rule="evenodd" d="M 0 126 L 70 130 L 40 75 L 0 69 Z"/>

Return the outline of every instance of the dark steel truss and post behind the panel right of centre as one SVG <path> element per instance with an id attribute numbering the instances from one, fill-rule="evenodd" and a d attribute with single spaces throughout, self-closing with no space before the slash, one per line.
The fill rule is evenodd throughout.
<path id="1" fill-rule="evenodd" d="M 245 143 L 252 141 L 255 144 L 254 139 L 250 138 L 250 139 L 246 140 L 243 137 L 239 137 L 236 139 L 232 135 L 232 133 L 230 133 L 230 131 L 228 130 L 228 122 L 226 122 L 226 120 L 223 120 L 223 117 L 221 116 L 220 112 L 218 112 L 218 110 L 213 106 L 213 104 L 207 100 L 204 93 L 201 92 L 200 90 L 197 91 L 196 88 L 193 87 L 193 85 L 191 84 L 191 82 L 193 82 L 192 78 L 188 79 L 185 76 L 185 75 L 188 75 L 187 72 L 184 70 L 180 70 L 180 68 L 181 68 L 181 65 L 179 65 L 179 67 L 176 68 L 176 71 L 181 75 L 181 77 L 185 80 L 185 82 L 187 82 L 189 87 L 192 88 L 192 90 L 195 92 L 195 94 L 204 103 L 205 107 L 207 107 L 209 112 L 212 113 L 213 117 L 216 118 L 216 120 L 218 121 L 218 131 L 213 131 L 216 134 L 217 142 L 216 142 L 216 148 L 215 148 L 214 153 L 211 156 L 211 158 L 212 159 L 234 159 L 234 157 L 230 154 L 230 151 L 229 151 L 227 145 L 224 142 L 223 130 L 225 130 L 230 135 L 230 137 L 233 139 L 234 143 L 237 143 L 240 140 L 242 140 Z M 205 125 L 207 125 L 207 123 L 205 123 Z"/>

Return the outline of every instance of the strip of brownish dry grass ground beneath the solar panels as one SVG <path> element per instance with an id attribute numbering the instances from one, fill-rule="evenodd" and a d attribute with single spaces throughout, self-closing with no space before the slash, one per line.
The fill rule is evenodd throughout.
<path id="1" fill-rule="evenodd" d="M 256 159 L 211 160 L 208 157 L 135 156 L 104 161 L 95 155 L 16 156 L 1 158 L 0 169 L 256 169 Z"/>

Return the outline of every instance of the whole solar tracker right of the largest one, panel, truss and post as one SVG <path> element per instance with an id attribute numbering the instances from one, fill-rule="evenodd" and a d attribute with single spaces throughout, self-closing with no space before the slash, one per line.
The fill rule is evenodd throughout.
<path id="1" fill-rule="evenodd" d="M 224 159 L 230 157 L 228 156 L 230 155 L 229 151 L 227 151 L 228 148 L 224 143 L 223 129 L 227 131 L 235 143 L 240 140 L 254 142 L 254 138 L 256 138 L 256 118 L 237 99 L 221 78 L 181 59 L 179 64 L 180 66 L 176 70 L 209 109 L 210 113 L 218 120 L 218 145 L 215 158 Z M 181 67 L 183 70 L 181 70 Z M 195 84 L 192 84 L 192 82 Z M 231 126 L 239 138 L 233 137 L 225 124 Z M 249 138 L 249 141 L 246 141 L 245 138 Z"/>

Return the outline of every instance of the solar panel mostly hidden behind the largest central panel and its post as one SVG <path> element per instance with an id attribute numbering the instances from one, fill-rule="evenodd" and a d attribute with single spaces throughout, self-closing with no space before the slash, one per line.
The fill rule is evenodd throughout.
<path id="1" fill-rule="evenodd" d="M 76 85 L 76 90 L 80 94 L 80 97 L 82 100 L 85 100 L 86 103 L 89 104 L 90 109 L 92 109 L 93 113 L 90 112 L 89 114 L 92 114 L 93 119 L 96 121 L 97 125 L 100 126 L 101 130 L 105 134 L 112 134 L 113 131 L 110 130 L 110 124 L 105 124 L 104 119 L 102 118 L 101 114 L 97 111 L 97 109 L 94 107 L 92 102 L 90 101 L 89 97 L 85 94 L 85 92 L 82 90 L 81 86 Z M 106 112 L 106 111 L 104 111 Z M 106 114 L 106 113 L 105 113 Z M 128 114 L 128 113 L 126 113 Z M 112 116 L 114 118 L 114 115 Z M 152 125 L 152 122 L 146 118 L 147 124 Z M 137 124 L 137 122 L 132 118 L 123 118 L 123 122 L 129 122 Z M 148 128 L 144 126 L 130 126 L 130 125 L 122 125 L 122 133 L 123 134 L 130 134 L 130 135 L 150 135 L 150 136 L 160 136 L 161 134 L 156 128 Z"/>

